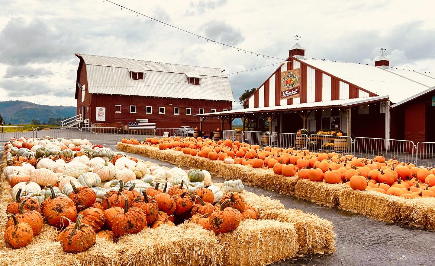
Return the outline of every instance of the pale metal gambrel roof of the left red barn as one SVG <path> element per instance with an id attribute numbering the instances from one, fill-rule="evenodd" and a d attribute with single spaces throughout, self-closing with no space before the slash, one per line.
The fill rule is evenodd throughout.
<path id="1" fill-rule="evenodd" d="M 87 68 L 89 93 L 234 101 L 224 69 L 76 53 Z M 144 73 L 133 80 L 130 72 Z M 199 85 L 187 76 L 200 77 Z"/>

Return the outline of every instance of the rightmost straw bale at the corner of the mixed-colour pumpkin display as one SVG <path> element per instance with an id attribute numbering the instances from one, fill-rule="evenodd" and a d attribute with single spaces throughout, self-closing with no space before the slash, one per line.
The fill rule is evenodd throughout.
<path id="1" fill-rule="evenodd" d="M 260 213 L 261 219 L 294 223 L 298 234 L 299 254 L 335 252 L 334 224 L 300 209 L 270 209 Z"/>

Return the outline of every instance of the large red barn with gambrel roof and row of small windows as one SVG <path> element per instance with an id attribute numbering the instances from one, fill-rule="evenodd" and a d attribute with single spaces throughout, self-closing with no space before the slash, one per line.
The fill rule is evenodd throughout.
<path id="1" fill-rule="evenodd" d="M 224 69 L 75 55 L 80 58 L 77 121 L 91 126 L 199 127 L 195 114 L 228 111 L 234 101 Z M 209 119 L 202 126 L 216 130 L 221 121 Z"/>

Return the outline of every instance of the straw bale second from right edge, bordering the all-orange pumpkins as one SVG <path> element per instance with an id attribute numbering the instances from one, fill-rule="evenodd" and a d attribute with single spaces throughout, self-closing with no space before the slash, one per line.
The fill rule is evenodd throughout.
<path id="1" fill-rule="evenodd" d="M 400 203 L 406 201 L 398 196 L 385 195 L 376 191 L 341 190 L 338 208 L 359 213 L 385 222 L 397 222 Z"/>

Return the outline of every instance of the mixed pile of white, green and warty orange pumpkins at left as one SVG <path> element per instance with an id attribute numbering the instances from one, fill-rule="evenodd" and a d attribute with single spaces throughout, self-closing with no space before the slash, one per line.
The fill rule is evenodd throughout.
<path id="1" fill-rule="evenodd" d="M 148 168 L 87 140 L 10 139 L 4 149 L 3 174 L 14 199 L 6 210 L 10 248 L 31 243 L 44 220 L 61 229 L 63 250 L 76 253 L 93 246 L 97 234 L 114 241 L 146 226 L 187 220 L 226 233 L 243 219 L 258 219 L 239 194 L 241 180 L 226 181 L 223 195 L 205 170 Z"/>

